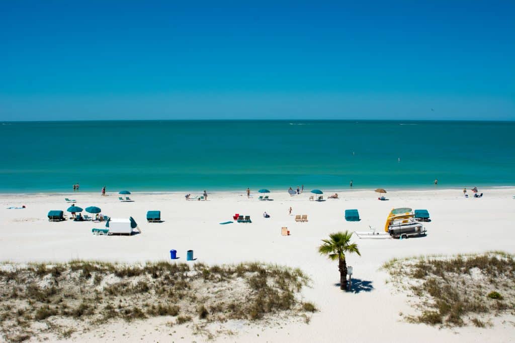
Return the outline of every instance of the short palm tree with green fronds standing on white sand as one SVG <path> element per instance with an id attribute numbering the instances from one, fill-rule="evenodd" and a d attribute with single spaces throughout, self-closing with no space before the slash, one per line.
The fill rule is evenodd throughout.
<path id="1" fill-rule="evenodd" d="M 334 232 L 329 235 L 330 239 L 322 240 L 323 244 L 318 247 L 320 255 L 327 255 L 329 259 L 338 260 L 340 271 L 340 290 L 347 290 L 347 262 L 345 253 L 355 252 L 361 256 L 356 243 L 350 243 L 352 232 Z"/>

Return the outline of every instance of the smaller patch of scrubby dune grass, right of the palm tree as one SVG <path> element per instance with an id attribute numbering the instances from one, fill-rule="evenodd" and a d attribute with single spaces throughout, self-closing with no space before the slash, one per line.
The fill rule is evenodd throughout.
<path id="1" fill-rule="evenodd" d="M 493 316 L 515 314 L 515 256 L 506 252 L 397 259 L 383 268 L 415 299 L 410 322 L 485 328 Z"/>

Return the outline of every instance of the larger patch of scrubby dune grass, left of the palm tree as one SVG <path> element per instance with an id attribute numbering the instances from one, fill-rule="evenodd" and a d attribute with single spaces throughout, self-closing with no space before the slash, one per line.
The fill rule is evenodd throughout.
<path id="1" fill-rule="evenodd" d="M 262 263 L 6 262 L 0 265 L 0 330 L 3 339 L 15 342 L 158 316 L 196 327 L 281 314 L 305 318 L 316 311 L 300 300 L 308 282 L 300 269 Z"/>

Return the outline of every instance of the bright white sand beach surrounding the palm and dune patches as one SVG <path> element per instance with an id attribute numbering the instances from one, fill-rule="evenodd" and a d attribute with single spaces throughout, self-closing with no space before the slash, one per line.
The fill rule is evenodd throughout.
<path id="1" fill-rule="evenodd" d="M 334 192 L 324 190 L 324 198 Z M 461 189 L 388 191 L 388 201 L 378 201 L 371 190 L 337 191 L 339 199 L 308 201 L 308 192 L 289 196 L 286 191 L 268 195 L 273 201 L 258 201 L 253 190 L 247 198 L 240 193 L 212 192 L 208 201 L 185 201 L 181 193 L 132 193 L 134 202 L 121 203 L 108 193 L 4 194 L 0 195 L 0 260 L 14 262 L 70 261 L 73 259 L 119 262 L 167 260 L 176 249 L 177 261 L 186 261 L 186 250 L 193 249 L 197 262 L 207 264 L 263 261 L 301 268 L 311 279 L 303 297 L 319 309 L 310 323 L 284 322 L 260 327 L 244 322 L 225 323 L 235 335 L 219 335 L 223 342 L 508 342 L 515 337 L 515 316 L 495 318 L 492 328 L 464 327 L 438 329 L 425 324 L 407 323 L 413 314 L 407 297 L 394 292 L 396 284 L 386 283 L 379 270 L 392 258 L 459 254 L 504 250 L 515 253 L 513 232 L 515 188 L 480 189 L 482 198 L 465 198 Z M 469 191 L 471 194 L 471 192 Z M 200 195 L 200 192 L 198 192 Z M 91 229 L 102 223 L 49 222 L 49 210 L 66 210 L 64 198 L 77 200 L 82 208 L 98 206 L 112 218 L 133 216 L 141 234 L 94 236 Z M 25 209 L 7 209 L 25 205 Z M 293 215 L 288 215 L 288 208 Z M 342 292 L 337 263 L 320 256 L 320 240 L 331 232 L 366 231 L 368 226 L 382 231 L 394 207 L 427 209 L 431 222 L 425 223 L 427 236 L 404 240 L 359 240 L 362 256 L 349 255 L 354 268 L 355 292 Z M 359 222 L 347 222 L 345 209 L 358 209 Z M 162 223 L 147 223 L 146 212 L 160 210 Z M 271 218 L 263 218 L 266 211 Z M 232 220 L 235 213 L 250 215 L 252 223 L 220 222 Z M 308 222 L 296 223 L 296 214 L 307 214 Z M 68 213 L 69 217 L 69 213 Z M 281 236 L 287 226 L 291 235 Z M 193 262 L 188 262 L 193 263 Z M 402 313 L 402 315 L 400 315 Z M 213 324 L 213 330 L 216 325 Z M 204 341 L 185 326 L 166 327 L 163 320 L 112 323 L 91 332 L 76 333 L 70 341 L 149 342 Z"/>

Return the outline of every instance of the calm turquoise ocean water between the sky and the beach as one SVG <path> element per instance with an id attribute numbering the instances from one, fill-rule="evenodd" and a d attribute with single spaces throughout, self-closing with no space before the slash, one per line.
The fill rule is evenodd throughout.
<path id="1" fill-rule="evenodd" d="M 515 185 L 515 122 L 0 124 L 0 192 Z M 400 158 L 400 161 L 399 161 Z"/>

